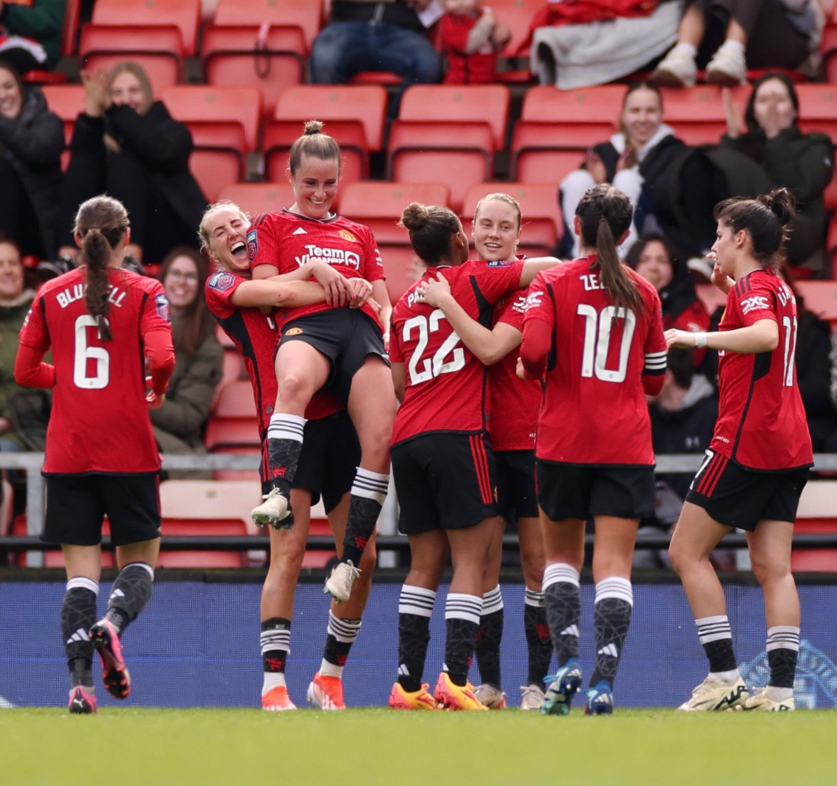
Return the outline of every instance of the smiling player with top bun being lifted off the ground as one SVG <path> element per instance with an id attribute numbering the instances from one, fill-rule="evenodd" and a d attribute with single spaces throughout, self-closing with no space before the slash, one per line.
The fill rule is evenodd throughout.
<path id="1" fill-rule="evenodd" d="M 387 496 L 396 401 L 382 325 L 388 324 L 391 308 L 372 232 L 331 212 L 340 177 L 340 147 L 322 133 L 322 123 L 306 123 L 305 133 L 290 148 L 289 168 L 295 203 L 262 216 L 247 235 L 253 277 L 298 271 L 306 261 L 319 258 L 328 263 L 328 276 L 319 278 L 326 287 L 326 303 L 277 314 L 279 391 L 267 438 L 273 489 L 254 509 L 253 519 L 274 527 L 292 522 L 289 495 L 302 449 L 306 406 L 327 385 L 346 403 L 361 443 L 341 561 L 326 581 L 326 592 L 345 602 Z M 352 278 L 372 282 L 380 315 L 369 303 L 339 308 L 338 297 Z"/>

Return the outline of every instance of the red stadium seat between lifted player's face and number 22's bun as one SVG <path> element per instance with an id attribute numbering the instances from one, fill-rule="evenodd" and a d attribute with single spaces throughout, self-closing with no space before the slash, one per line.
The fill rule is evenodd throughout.
<path id="1" fill-rule="evenodd" d="M 372 230 L 378 245 L 409 246 L 408 231 L 398 226 L 410 202 L 447 205 L 450 189 L 442 183 L 393 183 L 369 180 L 347 185 L 341 196 L 341 214 Z M 384 269 L 387 270 L 386 260 Z"/>

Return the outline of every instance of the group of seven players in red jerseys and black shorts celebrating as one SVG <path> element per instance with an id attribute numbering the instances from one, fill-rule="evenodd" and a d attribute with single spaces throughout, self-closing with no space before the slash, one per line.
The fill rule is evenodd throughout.
<path id="1" fill-rule="evenodd" d="M 372 233 L 331 211 L 339 176 L 340 148 L 320 123 L 308 122 L 290 151 L 295 204 L 252 222 L 238 205 L 213 204 L 200 226 L 218 269 L 206 300 L 244 358 L 263 439 L 264 499 L 253 510 L 271 546 L 260 602 L 263 709 L 295 709 L 285 664 L 319 498 L 340 561 L 326 579 L 331 612 L 307 697 L 324 710 L 345 707 L 342 671 L 369 597 L 375 526 L 392 468 L 410 568 L 398 602 L 389 706 L 506 706 L 499 575 L 504 523 L 514 520 L 526 584 L 520 706 L 569 712 L 583 685 L 579 582 L 593 520 L 596 659 L 583 709 L 611 713 L 633 607 L 636 530 L 654 508 L 646 396 L 660 392 L 667 348 L 688 347 L 719 352 L 721 403 L 670 546 L 709 659 L 706 680 L 680 710 L 793 710 L 799 604 L 790 543 L 813 454 L 793 369 L 796 306 L 776 275 L 793 217 L 790 194 L 778 189 L 716 206 L 712 281 L 727 292 L 720 328 L 664 333 L 655 287 L 619 261 L 632 207 L 612 186 L 590 189 L 578 204 L 581 256 L 565 262 L 518 258 L 521 211 L 508 194 L 490 194 L 475 207 L 476 259 L 452 211 L 405 206 L 401 223 L 424 273 L 393 307 Z M 90 203 L 101 215 L 91 218 Z M 110 212 L 102 212 L 105 203 Z M 136 416 L 157 406 L 171 374 L 166 298 L 158 282 L 121 270 L 130 228 L 120 208 L 106 197 L 82 205 L 75 234 L 84 265 L 39 291 L 15 366 L 22 384 L 56 391 L 43 537 L 62 544 L 67 564 L 62 633 L 71 712 L 95 711 L 94 649 L 106 689 L 128 695 L 120 636 L 151 594 L 159 549 L 159 504 L 149 491 L 156 493 L 158 458 L 140 466 L 124 446 L 112 457 L 62 455 L 69 440 L 106 430 L 109 407 L 131 407 Z M 102 276 L 120 282 L 130 308 L 109 300 Z M 86 283 L 85 297 L 57 307 L 69 283 Z M 50 348 L 54 365 L 43 362 Z M 130 383 L 109 375 L 118 365 L 126 366 L 118 379 Z M 90 422 L 64 433 L 61 411 L 88 412 Z M 150 425 L 138 424 L 137 435 L 146 439 L 146 432 Z M 77 513 L 68 520 L 61 509 Z M 104 514 L 120 573 L 95 623 Z M 723 589 L 709 561 L 732 528 L 747 531 L 765 597 L 771 676 L 758 689 L 737 670 Z M 449 561 L 444 665 L 431 690 L 424 682 L 429 623 Z M 474 655 L 477 686 L 468 680 Z M 553 655 L 557 671 L 547 675 Z"/>

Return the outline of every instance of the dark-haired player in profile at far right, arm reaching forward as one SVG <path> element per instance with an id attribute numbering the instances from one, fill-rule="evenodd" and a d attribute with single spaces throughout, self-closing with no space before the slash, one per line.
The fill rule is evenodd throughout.
<path id="1" fill-rule="evenodd" d="M 787 189 L 717 204 L 712 282 L 727 292 L 719 330 L 665 332 L 669 346 L 706 346 L 721 355 L 715 436 L 669 549 L 709 658 L 709 675 L 682 711 L 793 710 L 799 599 L 790 551 L 814 458 L 794 369 L 796 301 L 776 273 L 793 207 Z M 733 527 L 747 530 L 768 621 L 770 685 L 753 696 L 738 673 L 723 588 L 709 562 L 710 551 Z"/>

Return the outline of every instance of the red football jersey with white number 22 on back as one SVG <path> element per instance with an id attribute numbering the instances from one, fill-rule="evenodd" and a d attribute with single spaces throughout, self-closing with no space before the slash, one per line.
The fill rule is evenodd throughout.
<path id="1" fill-rule="evenodd" d="M 441 269 L 457 303 L 486 327 L 493 306 L 518 287 L 523 263 L 465 262 Z M 440 308 L 415 300 L 419 283 L 435 277 L 431 267 L 393 308 L 389 358 L 407 374 L 404 400 L 393 426 L 393 445 L 427 432 L 485 429 L 485 366 L 462 344 Z"/>

